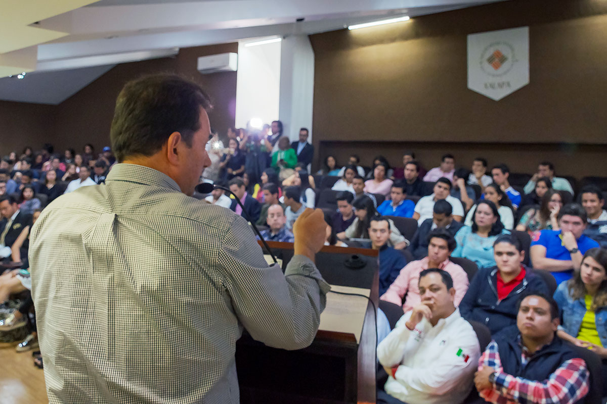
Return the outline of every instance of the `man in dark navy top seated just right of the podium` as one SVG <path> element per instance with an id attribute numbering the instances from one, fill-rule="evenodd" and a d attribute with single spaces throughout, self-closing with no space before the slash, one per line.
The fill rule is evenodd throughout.
<path id="1" fill-rule="evenodd" d="M 407 265 L 407 259 L 400 251 L 388 247 L 391 230 L 390 222 L 385 217 L 371 217 L 368 229 L 371 248 L 379 251 L 379 296 L 388 290 L 388 286 L 392 285 L 402 268 Z"/>

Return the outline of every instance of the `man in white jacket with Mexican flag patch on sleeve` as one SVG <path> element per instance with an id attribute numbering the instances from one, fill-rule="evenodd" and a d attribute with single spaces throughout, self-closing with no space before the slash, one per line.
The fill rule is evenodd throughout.
<path id="1" fill-rule="evenodd" d="M 451 276 L 436 268 L 422 271 L 419 294 L 421 304 L 378 345 L 379 363 L 388 373 L 378 404 L 458 404 L 472 389 L 480 346 L 453 304 Z"/>

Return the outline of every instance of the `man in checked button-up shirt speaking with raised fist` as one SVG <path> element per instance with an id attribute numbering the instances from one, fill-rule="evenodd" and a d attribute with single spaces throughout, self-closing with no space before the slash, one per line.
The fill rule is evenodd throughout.
<path id="1" fill-rule="evenodd" d="M 310 345 L 328 285 L 314 265 L 322 211 L 294 227 L 285 274 L 246 220 L 192 197 L 210 164 L 209 108 L 177 76 L 125 85 L 106 185 L 61 196 L 32 230 L 32 294 L 51 403 L 239 403 L 245 328 Z"/>

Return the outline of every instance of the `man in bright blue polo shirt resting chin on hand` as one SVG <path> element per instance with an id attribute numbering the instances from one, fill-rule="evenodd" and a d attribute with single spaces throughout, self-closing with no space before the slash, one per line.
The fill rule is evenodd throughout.
<path id="1" fill-rule="evenodd" d="M 558 213 L 561 230 L 542 230 L 532 235 L 531 262 L 538 270 L 548 270 L 557 280 L 571 279 L 579 271 L 582 256 L 599 243 L 586 237 L 586 211 L 579 204 L 568 204 Z"/>

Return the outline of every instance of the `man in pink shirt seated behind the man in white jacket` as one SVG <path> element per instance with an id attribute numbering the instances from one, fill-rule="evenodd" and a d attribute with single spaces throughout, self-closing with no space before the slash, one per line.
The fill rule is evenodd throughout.
<path id="1" fill-rule="evenodd" d="M 456 263 L 449 260 L 449 255 L 455 250 L 455 239 L 444 229 L 436 229 L 428 234 L 428 256 L 412 261 L 402 268 L 401 273 L 390 285 L 388 290 L 380 297 L 396 305 L 402 305 L 406 313 L 421 303 L 419 296 L 419 273 L 428 268 L 438 268 L 447 271 L 453 278 L 455 288 L 455 305 L 459 305 L 468 290 L 468 276 L 466 271 Z M 402 297 L 407 296 L 402 304 Z"/>

